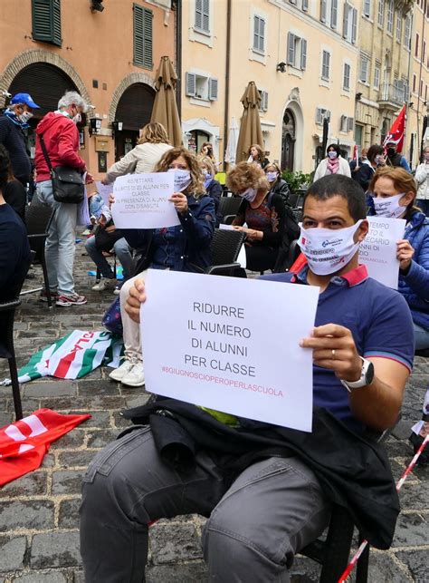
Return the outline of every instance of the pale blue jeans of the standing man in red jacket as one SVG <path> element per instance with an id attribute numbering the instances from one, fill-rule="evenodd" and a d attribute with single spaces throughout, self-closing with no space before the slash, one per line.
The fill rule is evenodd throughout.
<path id="1" fill-rule="evenodd" d="M 78 205 L 57 202 L 52 194 L 52 181 L 37 183 L 36 199 L 55 210 L 44 255 L 52 291 L 71 296 L 74 294 L 74 251 Z"/>

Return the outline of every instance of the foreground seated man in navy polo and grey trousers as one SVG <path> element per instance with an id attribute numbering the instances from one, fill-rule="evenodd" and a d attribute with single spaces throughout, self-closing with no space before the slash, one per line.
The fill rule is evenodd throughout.
<path id="1" fill-rule="evenodd" d="M 216 417 L 166 398 L 140 413 L 133 410 L 133 419 L 150 414 L 150 426 L 126 432 L 100 452 L 83 480 L 81 553 L 89 583 L 144 580 L 148 523 L 191 512 L 210 516 L 203 539 L 210 580 L 289 581 L 295 553 L 328 525 L 331 501 L 338 501 L 333 491 L 348 472 L 344 498 L 351 500 L 360 481 L 362 506 L 375 500 L 370 520 L 386 504 L 376 495 L 381 473 L 369 472 L 362 481 L 366 456 L 375 449 L 362 433 L 390 427 L 401 409 L 414 355 L 409 309 L 402 296 L 358 266 L 368 224 L 355 180 L 333 175 L 316 181 L 306 195 L 302 222 L 300 247 L 308 265 L 297 274 L 266 278 L 320 288 L 316 326 L 300 342 L 313 352 L 313 431 L 234 417 L 233 425 L 222 423 L 232 416 Z M 129 316 L 138 320 L 145 299 L 143 283 L 136 281 Z M 279 335 L 279 342 L 285 337 Z M 323 423 L 333 431 L 324 432 Z M 186 467 L 160 454 L 161 442 L 178 430 L 195 442 L 195 463 Z M 286 447 L 280 452 L 277 447 L 273 457 L 267 443 L 278 446 L 280 436 Z M 383 467 L 394 492 L 386 508 L 395 507 L 387 548 L 399 509 L 388 463 Z M 359 512 L 353 516 L 359 520 Z"/>

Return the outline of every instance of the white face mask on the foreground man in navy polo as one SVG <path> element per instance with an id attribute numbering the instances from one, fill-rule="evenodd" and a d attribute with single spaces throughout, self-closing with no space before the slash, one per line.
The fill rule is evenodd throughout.
<path id="1" fill-rule="evenodd" d="M 356 225 L 332 230 L 330 228 L 300 228 L 298 245 L 307 257 L 309 267 L 317 276 L 329 276 L 346 267 L 358 251 L 360 242 L 353 236 L 362 219 Z"/>

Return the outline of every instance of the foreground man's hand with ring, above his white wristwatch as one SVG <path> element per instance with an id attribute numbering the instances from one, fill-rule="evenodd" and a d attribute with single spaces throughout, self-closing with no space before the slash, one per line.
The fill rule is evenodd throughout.
<path id="1" fill-rule="evenodd" d="M 326 324 L 313 328 L 310 338 L 300 341 L 303 348 L 313 349 L 313 362 L 329 368 L 343 381 L 358 381 L 362 361 L 358 355 L 350 330 L 337 324 Z"/>

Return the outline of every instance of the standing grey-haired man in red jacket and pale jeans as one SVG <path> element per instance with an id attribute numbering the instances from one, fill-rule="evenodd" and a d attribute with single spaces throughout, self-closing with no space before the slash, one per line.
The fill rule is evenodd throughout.
<path id="1" fill-rule="evenodd" d="M 58 102 L 58 110 L 47 113 L 36 129 L 37 198 L 55 209 L 45 253 L 49 287 L 57 306 L 80 306 L 87 301 L 85 296 L 80 296 L 74 290 L 73 263 L 78 205 L 64 204 L 53 199 L 51 173 L 43 155 L 40 136 L 43 135 L 53 168 L 69 166 L 82 173 L 86 172 L 85 162 L 78 155 L 79 131 L 76 127 L 81 121 L 81 113 L 86 110 L 87 105 L 78 92 L 65 92 Z M 86 181 L 92 181 L 91 174 L 87 174 Z M 45 290 L 41 299 L 47 301 Z"/>

